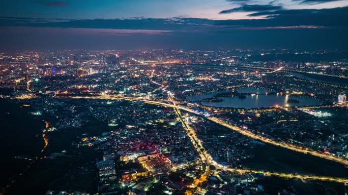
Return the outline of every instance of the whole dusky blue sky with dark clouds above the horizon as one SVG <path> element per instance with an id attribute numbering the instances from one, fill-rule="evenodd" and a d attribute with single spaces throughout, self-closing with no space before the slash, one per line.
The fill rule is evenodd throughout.
<path id="1" fill-rule="evenodd" d="M 343 49 L 348 0 L 3 0 L 0 50 Z"/>

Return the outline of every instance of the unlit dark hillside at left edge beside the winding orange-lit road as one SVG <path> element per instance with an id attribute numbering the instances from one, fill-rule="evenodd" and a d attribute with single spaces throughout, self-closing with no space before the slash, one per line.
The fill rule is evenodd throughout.
<path id="1" fill-rule="evenodd" d="M 16 156 L 33 158 L 40 154 L 44 123 L 28 114 L 29 108 L 20 108 L 7 100 L 0 99 L 0 108 L 0 187 L 3 188 L 29 163 Z"/>

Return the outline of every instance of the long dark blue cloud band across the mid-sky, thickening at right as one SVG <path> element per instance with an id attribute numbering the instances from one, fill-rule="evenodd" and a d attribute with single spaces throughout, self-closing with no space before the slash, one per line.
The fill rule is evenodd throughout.
<path id="1" fill-rule="evenodd" d="M 257 8 L 257 9 L 256 9 Z M 273 9 L 278 10 L 273 10 Z M 59 27 L 88 29 L 127 29 L 127 30 L 168 30 L 175 32 L 210 33 L 246 27 L 252 29 L 327 29 L 348 28 L 348 7 L 332 9 L 284 10 L 280 7 L 253 7 L 241 10 L 258 10 L 249 16 L 264 19 L 210 20 L 197 18 L 128 18 L 69 20 L 61 18 L 0 17 L 0 26 Z M 264 10 L 264 11 L 263 11 Z M 266 27 L 266 28 L 259 28 Z M 105 31 L 105 30 L 104 30 Z M 119 30 L 119 32 L 121 32 Z M 133 32 L 133 31 L 125 31 Z M 140 31 L 134 31 L 134 33 Z M 142 31 L 155 33 L 151 31 Z M 156 31 L 164 33 L 161 31 Z"/>

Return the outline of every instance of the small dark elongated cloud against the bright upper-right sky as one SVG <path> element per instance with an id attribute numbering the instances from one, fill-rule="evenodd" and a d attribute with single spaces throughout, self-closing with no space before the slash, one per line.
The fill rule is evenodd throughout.
<path id="1" fill-rule="evenodd" d="M 241 7 L 233 8 L 229 10 L 223 10 L 220 14 L 229 14 L 233 12 L 259 12 L 259 11 L 270 11 L 270 10 L 281 10 L 281 6 L 268 5 L 247 5 L 243 4 Z"/>

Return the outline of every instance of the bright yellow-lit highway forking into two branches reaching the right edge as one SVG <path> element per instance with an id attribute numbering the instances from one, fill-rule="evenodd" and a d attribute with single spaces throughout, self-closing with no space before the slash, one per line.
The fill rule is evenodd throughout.
<path id="1" fill-rule="evenodd" d="M 55 96 L 55 98 L 59 98 L 59 96 Z M 111 99 L 111 100 L 143 101 L 144 103 L 149 103 L 149 104 L 154 104 L 154 105 L 161 105 L 161 106 L 166 106 L 166 107 L 172 107 L 172 108 L 174 108 L 176 110 L 176 112 L 178 113 L 179 116 L 181 116 L 181 113 L 180 113 L 179 109 L 180 110 L 185 110 L 185 111 L 190 112 L 190 113 L 202 115 L 201 113 L 196 112 L 196 111 L 194 111 L 194 110 L 192 110 L 190 108 L 177 105 L 176 102 L 173 101 L 171 98 L 169 98 L 169 100 L 173 101 L 173 104 L 153 101 L 153 100 L 145 99 L 145 98 L 123 97 L 123 96 L 120 96 L 120 95 L 64 96 L 64 97 L 61 97 L 61 98 L 72 98 L 72 99 Z M 218 169 L 226 170 L 226 171 L 236 171 L 236 172 L 240 172 L 240 173 L 246 173 L 246 172 L 259 173 L 259 174 L 264 174 L 266 176 L 277 176 L 277 177 L 284 177 L 284 178 L 294 178 L 294 179 L 303 179 L 303 180 L 321 180 L 321 181 L 332 181 L 332 182 L 348 183 L 348 179 L 345 179 L 345 178 L 312 176 L 312 175 L 298 175 L 298 174 L 288 174 L 288 173 L 277 173 L 277 172 L 267 172 L 267 171 L 246 170 L 246 169 L 235 169 L 235 168 L 229 168 L 229 167 L 220 165 L 217 162 L 215 162 L 213 160 L 213 158 L 211 157 L 211 155 L 207 152 L 207 150 L 204 149 L 204 147 L 201 144 L 201 141 L 197 138 L 194 130 L 192 130 L 186 124 L 186 122 L 182 119 L 182 117 L 179 117 L 179 118 L 180 118 L 181 122 L 183 123 L 184 128 L 187 130 L 188 135 L 189 135 L 193 145 L 197 149 L 197 151 L 198 151 L 200 157 L 202 158 L 202 160 L 207 162 L 210 165 L 214 165 Z M 263 141 L 265 143 L 269 143 L 269 144 L 272 144 L 272 145 L 276 145 L 276 146 L 280 146 L 280 147 L 283 147 L 283 148 L 291 149 L 291 150 L 294 150 L 294 151 L 297 151 L 297 152 L 301 152 L 301 153 L 305 153 L 305 154 L 315 155 L 316 157 L 320 157 L 320 158 L 324 158 L 324 159 L 336 161 L 336 162 L 341 163 L 341 164 L 348 165 L 348 161 L 347 160 L 335 157 L 333 155 L 324 154 L 324 153 L 321 153 L 321 152 L 313 151 L 313 150 L 311 150 L 309 148 L 303 148 L 303 147 L 295 146 L 295 145 L 288 144 L 288 143 L 277 142 L 277 141 L 274 141 L 274 140 L 272 140 L 270 138 L 265 138 L 263 136 L 255 135 L 255 134 L 253 134 L 252 132 L 250 132 L 248 130 L 242 130 L 241 128 L 239 128 L 237 126 L 230 125 L 230 124 L 225 123 L 224 121 L 222 121 L 220 119 L 217 119 L 217 118 L 214 118 L 214 117 L 205 117 L 205 118 L 210 120 L 210 121 L 212 121 L 212 122 L 215 122 L 215 123 L 217 123 L 219 125 L 222 125 L 222 126 L 224 126 L 226 128 L 229 128 L 231 130 L 239 132 L 242 135 L 248 136 L 248 137 L 256 139 L 256 140 Z"/>

